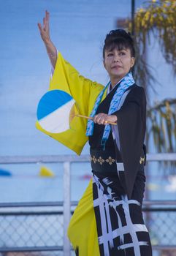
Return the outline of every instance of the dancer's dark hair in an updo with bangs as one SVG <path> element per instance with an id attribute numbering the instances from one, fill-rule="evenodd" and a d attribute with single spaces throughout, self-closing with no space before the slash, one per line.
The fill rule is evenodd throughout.
<path id="1" fill-rule="evenodd" d="M 135 57 L 134 42 L 130 33 L 127 33 L 124 29 L 111 30 L 107 34 L 104 40 L 103 47 L 103 59 L 105 50 L 118 50 L 129 49 L 131 52 L 131 57 Z"/>

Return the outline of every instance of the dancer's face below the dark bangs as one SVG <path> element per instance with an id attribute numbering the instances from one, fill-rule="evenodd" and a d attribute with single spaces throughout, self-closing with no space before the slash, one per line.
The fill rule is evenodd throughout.
<path id="1" fill-rule="evenodd" d="M 129 48 L 118 50 L 105 50 L 104 67 L 110 75 L 110 80 L 120 80 L 125 76 L 131 67 L 134 66 L 134 57 L 131 57 Z"/>

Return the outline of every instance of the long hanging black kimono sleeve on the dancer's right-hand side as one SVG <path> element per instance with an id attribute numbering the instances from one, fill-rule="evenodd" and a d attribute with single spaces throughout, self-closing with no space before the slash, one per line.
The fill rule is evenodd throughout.
<path id="1" fill-rule="evenodd" d="M 129 199 L 134 190 L 137 171 L 142 165 L 142 146 L 145 139 L 146 128 L 146 98 L 142 87 L 134 86 L 120 108 L 113 113 L 118 118 L 118 135 L 120 141 L 120 154 L 125 170 L 125 181 L 122 184 Z"/>

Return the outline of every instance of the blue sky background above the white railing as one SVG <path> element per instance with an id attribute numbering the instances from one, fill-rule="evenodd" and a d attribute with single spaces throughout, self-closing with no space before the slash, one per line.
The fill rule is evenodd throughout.
<path id="1" fill-rule="evenodd" d="M 105 35 L 115 29 L 117 18 L 130 16 L 130 0 L 6 0 L 1 3 L 0 155 L 70 154 L 34 124 L 37 103 L 47 91 L 50 62 L 37 22 L 50 11 L 50 34 L 58 50 L 82 75 L 106 84 L 102 65 Z M 141 6 L 142 1 L 136 1 Z M 175 97 L 175 82 L 157 40 L 148 47 L 161 87 L 150 92 L 151 102 Z M 85 153 L 88 148 L 85 148 Z"/>

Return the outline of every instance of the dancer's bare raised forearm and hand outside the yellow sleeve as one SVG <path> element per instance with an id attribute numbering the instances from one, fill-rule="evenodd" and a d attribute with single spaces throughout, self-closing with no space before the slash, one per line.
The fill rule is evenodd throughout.
<path id="1" fill-rule="evenodd" d="M 40 23 L 38 23 L 38 27 L 39 27 L 39 32 L 42 37 L 42 40 L 47 49 L 47 55 L 49 56 L 50 62 L 53 68 L 55 69 L 56 61 L 57 61 L 57 50 L 55 45 L 50 39 L 49 20 L 50 20 L 50 13 L 46 11 L 45 17 L 43 18 L 43 26 Z"/>

